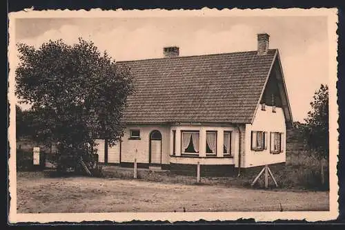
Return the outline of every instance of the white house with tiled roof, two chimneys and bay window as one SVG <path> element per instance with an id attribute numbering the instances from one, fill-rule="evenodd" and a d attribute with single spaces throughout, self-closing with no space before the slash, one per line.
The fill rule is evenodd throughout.
<path id="1" fill-rule="evenodd" d="M 286 162 L 286 127 L 293 124 L 277 49 L 257 35 L 257 50 L 121 61 L 135 76 L 124 113 L 126 130 L 99 162 L 161 167 L 179 173 L 230 175 Z"/>

